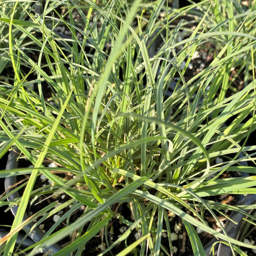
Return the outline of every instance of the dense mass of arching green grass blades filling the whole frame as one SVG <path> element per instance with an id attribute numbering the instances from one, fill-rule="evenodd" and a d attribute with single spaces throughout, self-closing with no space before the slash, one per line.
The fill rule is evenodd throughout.
<path id="1" fill-rule="evenodd" d="M 35 227 L 70 208 L 23 250 L 29 256 L 66 237 L 71 242 L 54 255 L 87 255 L 99 234 L 99 255 L 181 255 L 170 215 L 194 255 L 206 255 L 197 228 L 233 255 L 256 249 L 231 238 L 219 220 L 232 210 L 255 225 L 247 212 L 255 205 L 217 200 L 256 194 L 255 22 L 255 1 L 182 8 L 166 0 L 0 1 L 0 157 L 14 149 L 32 164 L 0 171 L 1 178 L 29 175 L 19 198 L 0 198 L 0 206 L 18 205 L 0 253 L 15 253 L 24 212 L 42 195 L 70 199 L 33 212 Z M 196 54 L 204 65 L 196 67 Z M 34 187 L 40 175 L 51 183 Z M 115 219 L 127 230 L 111 240 Z"/>

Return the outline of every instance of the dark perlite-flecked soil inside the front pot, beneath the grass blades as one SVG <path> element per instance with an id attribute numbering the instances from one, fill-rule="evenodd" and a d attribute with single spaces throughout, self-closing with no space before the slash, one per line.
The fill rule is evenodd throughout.
<path id="1" fill-rule="evenodd" d="M 24 165 L 24 160 L 22 162 L 23 162 L 22 165 Z M 27 162 L 26 165 L 29 166 L 30 163 L 28 163 L 28 161 L 25 161 L 25 162 Z M 63 172 L 63 173 L 57 173 L 56 175 L 58 175 L 61 178 L 66 179 L 66 180 L 69 180 L 70 178 L 72 178 L 72 175 L 70 175 L 70 173 Z M 25 175 L 25 178 L 26 177 L 27 176 Z M 230 173 L 225 173 L 224 175 L 222 175 L 222 178 L 224 178 L 224 177 L 225 178 L 230 177 Z M 19 179 L 20 180 L 24 179 L 24 176 L 20 175 Z M 49 180 L 42 181 L 41 177 L 39 175 L 36 180 L 34 189 L 38 189 L 44 185 L 49 185 Z M 27 209 L 27 212 L 29 212 L 29 215 L 32 215 L 33 213 L 46 207 L 48 204 L 51 204 L 54 201 L 58 201 L 58 203 L 64 203 L 65 201 L 71 199 L 68 195 L 65 195 L 65 198 L 62 198 L 61 196 L 63 196 L 63 195 L 64 194 L 59 195 L 58 198 L 52 198 L 52 197 L 49 197 L 49 194 L 42 194 L 37 198 L 37 200 L 35 200 L 33 202 L 33 204 L 29 207 L 29 209 Z M 221 195 L 221 196 L 216 196 L 215 198 L 210 197 L 210 198 L 204 198 L 204 199 L 219 201 L 224 204 L 235 204 L 235 198 L 233 198 L 230 195 Z M 41 202 L 41 203 L 38 204 L 38 202 Z M 126 220 L 131 221 L 131 222 L 133 221 L 128 203 L 116 204 L 116 205 L 113 205 L 112 208 L 114 211 L 116 211 L 120 215 L 122 215 Z M 58 212 L 57 214 L 59 214 L 61 216 L 65 212 L 67 212 L 69 209 L 70 209 L 69 207 L 66 207 L 66 208 L 62 209 L 60 212 Z M 183 210 L 186 211 L 186 209 L 183 209 Z M 84 212 L 83 207 L 81 207 L 81 209 L 78 209 L 75 212 L 73 212 L 72 215 L 70 216 L 70 223 L 72 223 L 73 221 L 76 221 L 83 214 L 83 212 Z M 226 219 L 223 218 L 223 216 L 220 215 L 218 212 L 216 212 L 216 211 L 214 211 L 214 212 L 217 216 L 219 216 L 220 220 L 223 221 L 223 223 L 225 224 Z M 187 211 L 187 213 L 192 215 L 191 212 Z M 172 241 L 172 246 L 177 247 L 177 252 L 174 253 L 173 255 L 174 256 L 192 255 L 193 251 L 192 251 L 191 243 L 189 241 L 189 236 L 187 235 L 185 227 L 182 225 L 181 218 L 178 216 L 173 216 L 171 212 L 168 212 L 168 214 L 169 214 L 171 232 L 177 234 L 177 240 Z M 229 215 L 230 212 L 227 212 L 226 214 Z M 9 213 L 9 215 L 11 215 L 11 213 Z M 156 214 L 156 216 L 157 216 L 157 214 Z M 213 217 L 208 212 L 204 213 L 204 218 L 209 223 L 209 227 L 218 229 L 218 227 L 216 226 L 216 222 L 214 221 Z M 12 220 L 10 220 L 10 224 L 11 224 L 11 221 Z M 175 225 L 177 226 L 177 224 L 179 224 L 179 223 L 181 225 L 180 225 L 179 230 L 177 230 L 177 228 L 175 229 Z M 55 221 L 53 221 L 53 216 L 47 218 L 47 220 L 44 221 L 42 224 L 44 224 L 44 227 L 42 229 L 45 233 L 47 230 L 49 230 L 52 227 L 52 225 L 55 224 Z M 61 225 L 59 225 L 55 231 L 58 231 L 58 230 L 64 228 L 65 226 L 66 226 L 66 224 L 64 222 L 62 222 Z M 157 217 L 155 219 L 155 226 L 157 226 Z M 88 224 L 86 224 L 84 226 L 84 229 L 83 229 L 84 233 L 86 232 L 87 227 L 88 227 Z M 90 241 L 87 242 L 87 244 L 85 246 L 84 253 L 82 255 L 86 256 L 86 255 L 88 255 L 88 253 L 90 253 L 89 254 L 90 256 L 97 256 L 99 253 L 102 252 L 102 250 L 100 250 L 101 244 L 105 245 L 105 248 L 107 248 L 108 247 L 107 245 L 108 244 L 111 245 L 113 243 L 113 241 L 116 241 L 119 238 L 119 236 L 121 236 L 122 233 L 124 233 L 124 231 L 127 228 L 128 228 L 128 226 L 126 226 L 125 224 L 122 224 L 122 222 L 120 222 L 118 220 L 118 218 L 112 218 L 108 224 L 108 230 L 107 230 L 108 241 L 106 241 L 105 236 L 101 236 L 102 234 L 97 234 L 97 236 L 95 236 L 93 239 L 91 239 Z M 165 223 L 164 223 L 163 229 L 166 229 Z M 137 233 L 137 231 L 133 230 L 133 232 L 127 239 L 127 245 L 132 244 L 134 241 L 136 241 L 136 238 L 134 236 L 136 233 Z M 170 252 L 169 241 L 168 241 L 166 234 L 167 233 L 162 234 L 162 244 L 163 244 L 164 248 L 166 249 L 166 251 Z M 83 233 L 82 233 L 82 235 L 83 235 Z M 200 237 L 200 239 L 204 245 L 206 245 L 213 238 L 210 234 L 208 234 L 206 232 L 201 232 L 198 234 L 198 236 Z M 59 245 L 65 246 L 70 243 L 71 239 L 72 239 L 72 236 L 66 237 L 62 241 L 59 242 Z M 122 241 L 120 244 L 116 245 L 111 250 L 111 252 L 115 255 L 115 254 L 119 253 L 120 251 L 122 251 L 124 248 L 125 248 L 125 241 Z M 138 250 L 140 250 L 140 246 L 138 246 L 137 248 L 138 248 Z M 111 253 L 108 252 L 105 255 L 108 256 L 108 255 L 111 255 Z M 133 254 L 130 254 L 130 255 L 133 255 Z"/>

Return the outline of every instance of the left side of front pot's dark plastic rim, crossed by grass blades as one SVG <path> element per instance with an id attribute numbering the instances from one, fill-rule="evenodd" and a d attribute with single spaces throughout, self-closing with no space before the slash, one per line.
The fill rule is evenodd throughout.
<path id="1" fill-rule="evenodd" d="M 17 166 L 18 166 L 17 156 L 18 155 L 17 155 L 17 153 L 15 153 L 15 151 L 11 151 L 9 153 L 7 164 L 6 164 L 6 170 L 17 168 Z M 14 185 L 15 183 L 17 183 L 17 176 L 6 177 L 5 178 L 5 188 L 6 188 L 6 190 L 9 189 L 9 187 Z M 12 192 L 13 189 L 14 188 L 10 189 L 9 193 Z M 15 198 L 18 198 L 19 196 L 20 196 L 19 193 L 15 192 L 12 195 L 9 195 L 8 201 L 15 200 Z M 11 212 L 14 216 L 16 216 L 16 214 L 17 214 L 17 209 L 18 209 L 18 206 L 15 206 L 15 207 L 11 208 Z M 29 215 L 25 212 L 24 217 L 23 217 L 23 221 L 25 221 L 27 218 L 29 218 Z M 32 226 L 33 226 L 33 224 L 27 224 L 24 227 L 24 230 L 27 230 L 27 232 L 29 232 L 29 230 L 32 230 Z M 31 233 L 29 233 L 29 236 L 32 239 L 32 241 L 31 241 L 32 244 L 34 244 L 36 242 L 41 241 L 41 239 L 44 236 L 44 233 L 39 228 L 35 228 L 35 229 L 33 229 L 33 231 Z M 23 245 L 25 245 L 25 246 L 28 245 L 28 244 L 25 244 L 25 243 L 28 243 L 28 240 L 23 242 Z M 29 243 L 29 246 L 31 246 L 32 244 Z M 59 246 L 58 244 L 54 244 L 50 248 L 42 248 L 41 252 L 46 253 L 47 251 L 51 250 L 51 252 L 53 254 L 53 253 L 58 252 L 61 249 L 62 249 L 61 246 Z M 63 255 L 63 256 L 65 256 L 65 255 Z"/>

